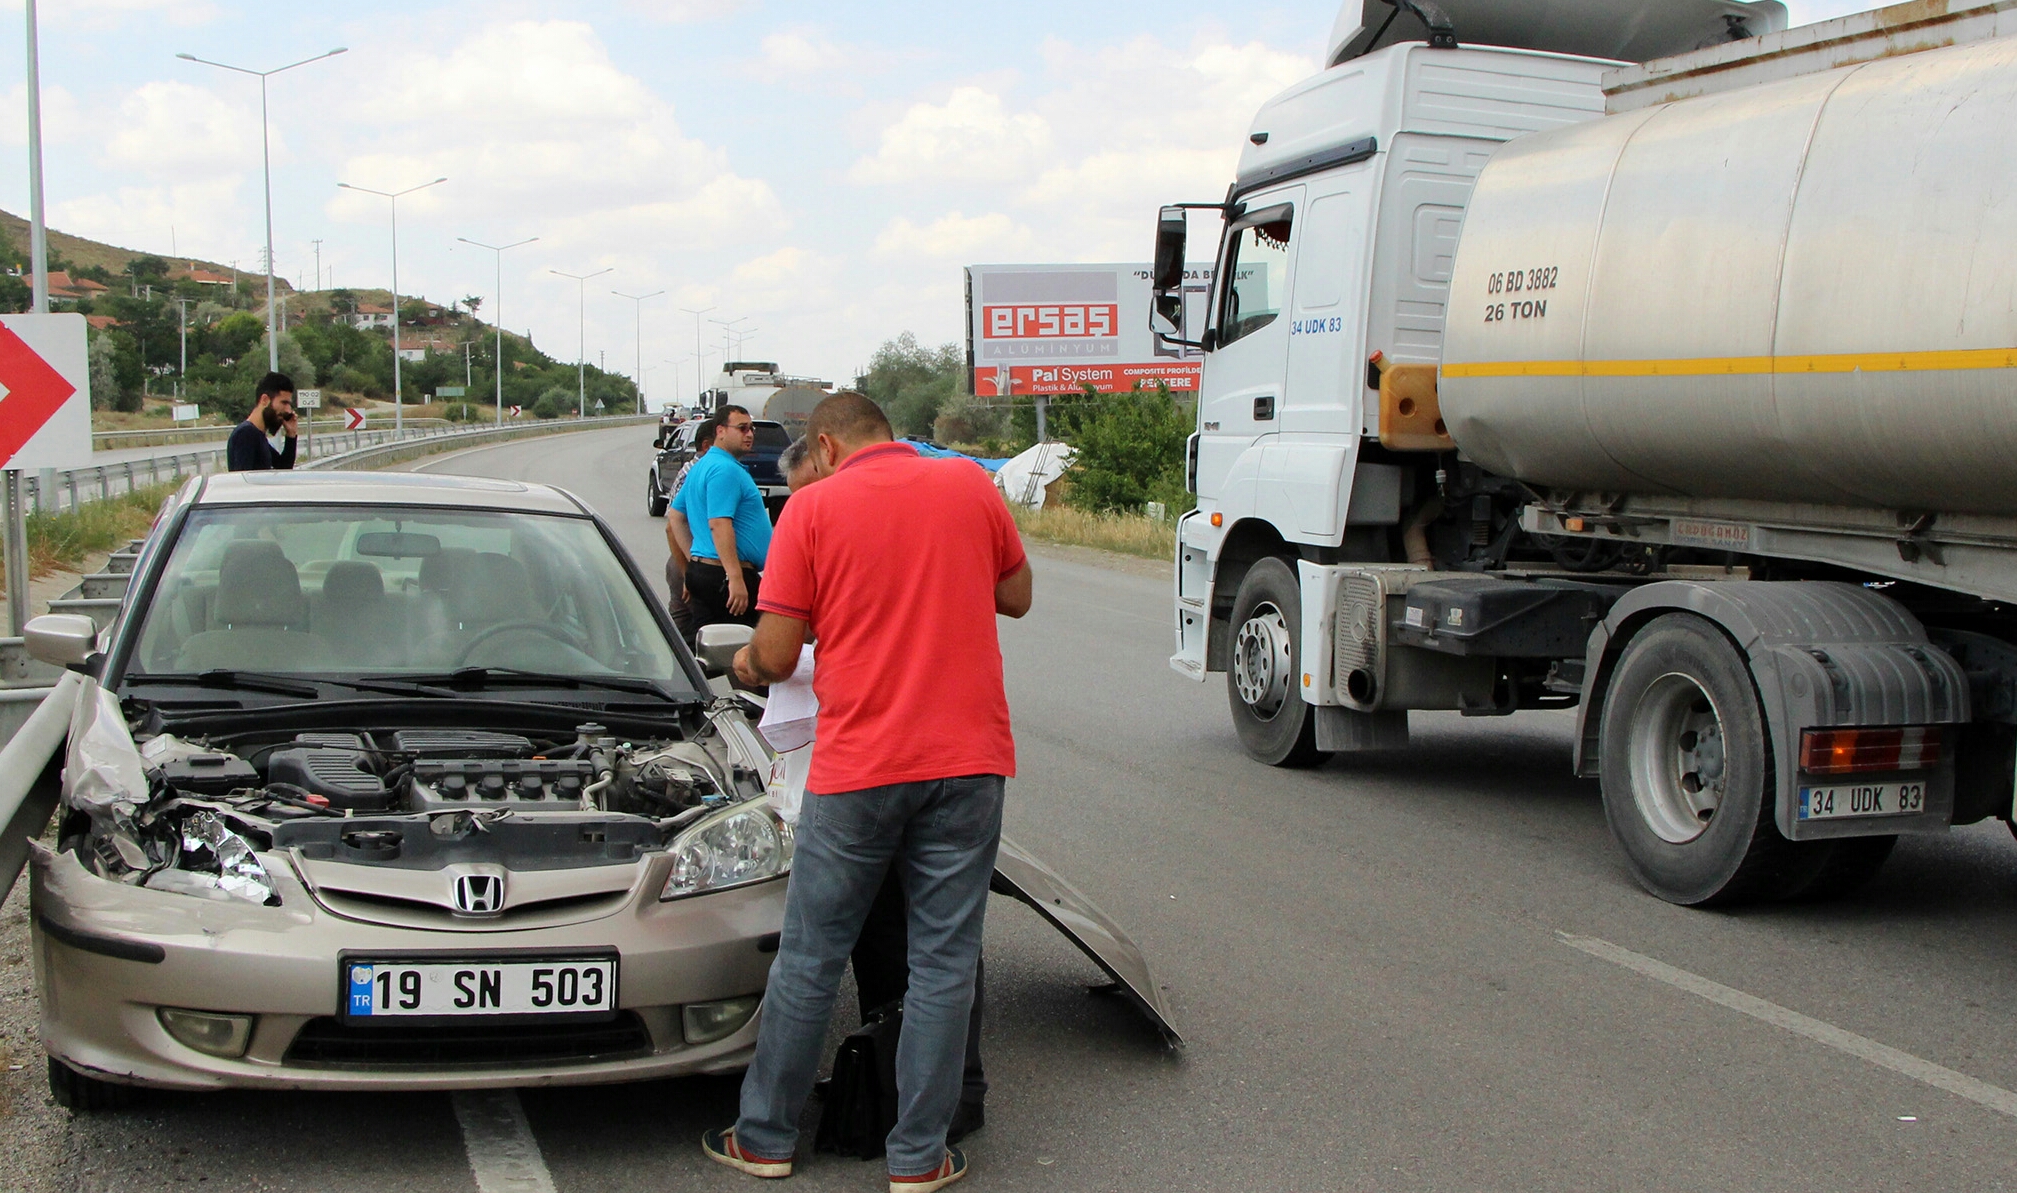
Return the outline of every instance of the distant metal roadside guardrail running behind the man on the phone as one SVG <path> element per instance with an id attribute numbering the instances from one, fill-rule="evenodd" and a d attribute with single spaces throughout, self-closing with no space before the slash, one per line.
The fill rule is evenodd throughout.
<path id="1" fill-rule="evenodd" d="M 553 418 L 553 420 L 532 420 L 520 422 L 518 426 L 506 426 L 502 432 L 490 426 L 468 428 L 466 424 L 428 420 L 436 426 L 416 428 L 409 420 L 405 426 L 405 438 L 395 440 L 393 428 L 367 428 L 367 430 L 329 430 L 317 432 L 313 436 L 313 456 L 311 468 L 351 468 L 351 466 L 375 466 L 365 464 L 369 456 L 359 456 L 359 452 L 375 446 L 391 446 L 393 450 L 407 450 L 411 444 L 430 444 L 426 450 L 440 450 L 440 440 L 456 442 L 484 442 L 482 436 L 510 440 L 530 434 L 555 434 L 563 430 L 583 430 L 591 426 L 621 426 L 629 422 L 649 422 L 658 416 L 654 414 L 613 414 L 605 418 Z M 345 460 L 345 462 L 335 462 Z M 379 460 L 389 462 L 389 460 Z M 42 468 L 40 472 L 30 472 L 22 476 L 22 489 L 26 491 L 28 509 L 32 513 L 56 513 L 65 509 L 77 509 L 87 501 L 97 501 L 103 497 L 113 497 L 119 493 L 133 493 L 149 484 L 161 484 L 163 480 L 182 480 L 184 476 L 198 476 L 224 470 L 224 448 L 208 448 L 202 452 L 177 452 L 173 456 L 151 456 L 147 460 L 125 460 L 119 464 L 87 464 L 83 468 Z"/>

